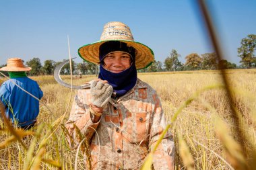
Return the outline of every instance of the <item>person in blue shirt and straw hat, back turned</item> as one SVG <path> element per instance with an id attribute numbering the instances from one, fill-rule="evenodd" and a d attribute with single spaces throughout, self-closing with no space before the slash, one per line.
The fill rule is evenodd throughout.
<path id="1" fill-rule="evenodd" d="M 0 105 L 5 109 L 5 116 L 13 126 L 25 130 L 36 124 L 39 100 L 43 96 L 38 83 L 27 77 L 26 71 L 30 70 L 30 67 L 24 66 L 21 58 L 9 58 L 7 66 L 0 69 L 0 71 L 7 71 L 10 77 L 0 87 Z"/>

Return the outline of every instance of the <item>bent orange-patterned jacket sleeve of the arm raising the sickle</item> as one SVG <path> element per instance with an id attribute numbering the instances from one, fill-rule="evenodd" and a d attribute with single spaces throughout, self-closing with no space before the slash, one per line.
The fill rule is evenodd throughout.
<path id="1" fill-rule="evenodd" d="M 86 96 L 88 95 L 84 95 L 81 91 L 77 92 L 72 104 L 69 120 L 65 125 L 68 130 L 66 138 L 71 148 L 76 148 L 84 137 L 89 142 L 100 123 L 100 120 L 94 123 L 94 116 L 90 114 L 90 104 L 88 104 Z"/>

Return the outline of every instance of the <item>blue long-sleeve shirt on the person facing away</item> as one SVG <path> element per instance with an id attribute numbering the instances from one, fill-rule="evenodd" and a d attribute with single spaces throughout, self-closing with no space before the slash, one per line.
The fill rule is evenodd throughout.
<path id="1" fill-rule="evenodd" d="M 36 121 L 39 114 L 39 101 L 25 91 L 14 85 L 14 81 L 20 87 L 37 97 L 42 98 L 43 92 L 36 81 L 28 77 L 9 79 L 0 87 L 0 99 L 5 105 L 5 115 L 18 122 L 18 126 L 26 126 Z"/>

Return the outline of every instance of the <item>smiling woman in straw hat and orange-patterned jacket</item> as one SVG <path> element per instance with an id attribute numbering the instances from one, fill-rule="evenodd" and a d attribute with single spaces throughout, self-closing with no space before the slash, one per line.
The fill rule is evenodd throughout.
<path id="1" fill-rule="evenodd" d="M 100 64 L 99 79 L 77 92 L 66 127 L 69 144 L 90 144 L 92 169 L 139 169 L 164 128 L 160 98 L 137 70 L 148 67 L 154 54 L 133 41 L 128 26 L 109 22 L 99 42 L 82 46 L 79 56 Z M 154 155 L 154 169 L 174 169 L 174 142 L 168 133 Z"/>

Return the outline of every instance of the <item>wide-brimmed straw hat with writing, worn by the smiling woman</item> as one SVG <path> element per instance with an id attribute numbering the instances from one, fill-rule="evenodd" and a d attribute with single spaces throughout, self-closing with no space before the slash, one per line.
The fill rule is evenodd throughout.
<path id="1" fill-rule="evenodd" d="M 135 42 L 130 28 L 122 22 L 108 22 L 103 28 L 100 41 L 82 46 L 78 49 L 78 54 L 84 60 L 98 64 L 100 62 L 99 47 L 107 41 L 125 42 L 127 46 L 135 48 L 137 69 L 145 69 L 154 62 L 154 52 L 148 46 Z"/>

